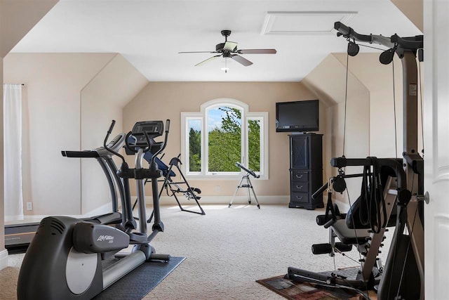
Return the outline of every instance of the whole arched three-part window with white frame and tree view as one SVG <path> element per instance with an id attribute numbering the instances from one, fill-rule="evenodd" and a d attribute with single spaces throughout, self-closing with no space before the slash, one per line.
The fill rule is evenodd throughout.
<path id="1" fill-rule="evenodd" d="M 241 162 L 268 178 L 268 112 L 249 112 L 234 99 L 215 99 L 201 112 L 181 112 L 185 174 L 201 177 L 240 176 Z"/>

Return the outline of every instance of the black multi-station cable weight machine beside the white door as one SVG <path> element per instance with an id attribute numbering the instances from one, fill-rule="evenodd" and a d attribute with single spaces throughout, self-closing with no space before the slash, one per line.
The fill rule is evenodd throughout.
<path id="1" fill-rule="evenodd" d="M 345 37 L 348 55 L 358 53 L 356 41 L 375 43 L 388 49 L 380 55 L 380 63 L 392 62 L 396 53 L 403 66 L 403 157 L 349 159 L 333 158 L 330 164 L 339 175 L 316 193 L 328 188 L 326 214 L 317 218 L 319 225 L 330 228 L 330 245 L 318 245 L 319 253 L 339 252 L 333 238 L 343 244 L 355 244 L 361 255 L 361 266 L 352 275 L 339 270 L 314 273 L 288 268 L 287 278 L 299 282 L 314 282 L 330 287 L 356 289 L 364 298 L 373 287 L 377 299 L 424 299 L 424 160 L 417 151 L 418 132 L 418 76 L 417 58 L 422 61 L 423 37 L 391 37 L 358 34 L 351 27 L 335 22 L 337 36 Z M 419 63 L 418 63 L 419 64 Z M 363 167 L 362 193 L 351 205 L 348 214 L 340 214 L 332 203 L 333 189 L 346 190 L 344 167 Z M 355 175 L 357 176 L 357 175 Z M 336 184 L 337 183 L 337 184 Z M 391 225 L 396 210 L 396 224 L 387 261 L 382 267 L 377 259 L 384 231 Z M 390 223 L 390 224 L 389 224 Z M 326 249 L 325 249 L 326 248 Z M 378 286 L 377 286 L 378 283 Z"/>

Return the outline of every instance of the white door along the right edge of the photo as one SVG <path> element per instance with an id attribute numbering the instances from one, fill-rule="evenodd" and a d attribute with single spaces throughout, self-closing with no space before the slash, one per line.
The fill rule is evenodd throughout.
<path id="1" fill-rule="evenodd" d="M 425 298 L 449 299 L 449 1 L 424 0 Z"/>

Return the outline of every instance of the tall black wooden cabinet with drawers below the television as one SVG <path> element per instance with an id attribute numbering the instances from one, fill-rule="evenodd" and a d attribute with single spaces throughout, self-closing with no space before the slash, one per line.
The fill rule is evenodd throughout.
<path id="1" fill-rule="evenodd" d="M 290 135 L 290 203 L 288 207 L 324 207 L 323 195 L 311 195 L 323 185 L 323 135 Z"/>

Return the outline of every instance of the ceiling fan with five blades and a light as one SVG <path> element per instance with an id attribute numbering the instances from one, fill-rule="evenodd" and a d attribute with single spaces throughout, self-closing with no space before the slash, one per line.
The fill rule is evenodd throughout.
<path id="1" fill-rule="evenodd" d="M 248 65 L 253 65 L 250 60 L 243 58 L 243 56 L 239 56 L 239 54 L 275 54 L 276 49 L 240 49 L 237 50 L 237 43 L 234 41 L 228 41 L 227 37 L 231 35 L 231 30 L 222 30 L 222 36 L 225 37 L 225 43 L 220 43 L 215 46 L 215 51 L 190 51 L 190 52 L 178 52 L 178 53 L 220 53 L 217 56 L 212 56 L 206 60 L 203 60 L 201 63 L 197 63 L 195 65 L 203 65 L 208 63 L 210 60 L 214 60 L 215 58 L 219 58 L 223 56 L 224 58 L 232 58 L 237 63 L 241 63 L 245 67 Z"/>

